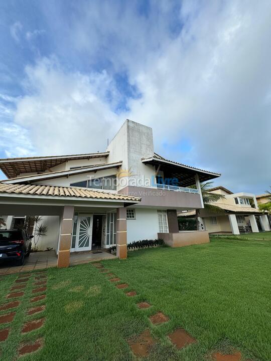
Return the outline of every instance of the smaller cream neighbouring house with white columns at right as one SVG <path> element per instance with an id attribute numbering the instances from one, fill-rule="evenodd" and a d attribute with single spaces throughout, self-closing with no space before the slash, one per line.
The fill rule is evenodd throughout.
<path id="1" fill-rule="evenodd" d="M 235 234 L 245 232 L 270 231 L 267 216 L 258 209 L 255 195 L 251 193 L 232 193 L 219 186 L 208 192 L 223 195 L 214 202 L 215 210 L 200 210 L 199 222 L 202 230 L 212 234 Z M 181 212 L 179 217 L 195 217 L 196 211 Z"/>

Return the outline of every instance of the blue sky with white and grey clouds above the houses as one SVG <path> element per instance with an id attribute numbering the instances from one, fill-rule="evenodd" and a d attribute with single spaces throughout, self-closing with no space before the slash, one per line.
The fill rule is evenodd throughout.
<path id="1" fill-rule="evenodd" d="M 166 158 L 263 193 L 270 22 L 269 0 L 1 2 L 0 157 L 103 151 L 128 118 Z"/>

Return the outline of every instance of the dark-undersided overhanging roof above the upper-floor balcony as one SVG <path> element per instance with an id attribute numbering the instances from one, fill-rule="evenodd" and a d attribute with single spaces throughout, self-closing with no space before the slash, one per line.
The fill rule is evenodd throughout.
<path id="1" fill-rule="evenodd" d="M 142 158 L 142 162 L 147 164 L 163 165 L 163 168 L 167 168 L 173 177 L 180 179 L 179 186 L 181 187 L 187 187 L 195 184 L 196 173 L 199 175 L 200 182 L 205 182 L 206 180 L 217 178 L 221 175 L 220 173 L 214 173 L 209 170 L 203 170 L 165 159 L 156 153 L 152 157 Z"/>

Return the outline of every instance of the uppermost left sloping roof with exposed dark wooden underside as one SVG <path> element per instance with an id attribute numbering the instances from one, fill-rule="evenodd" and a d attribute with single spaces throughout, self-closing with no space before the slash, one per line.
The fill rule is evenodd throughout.
<path id="1" fill-rule="evenodd" d="M 8 178 L 16 177 L 20 173 L 44 172 L 56 165 L 65 163 L 68 160 L 91 159 L 107 157 L 109 152 L 52 155 L 24 158 L 2 158 L 0 159 L 0 169 Z"/>

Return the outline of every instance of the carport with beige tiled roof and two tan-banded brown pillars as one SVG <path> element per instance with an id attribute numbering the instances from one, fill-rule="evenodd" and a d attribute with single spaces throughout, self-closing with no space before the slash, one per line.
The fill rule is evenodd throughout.
<path id="1" fill-rule="evenodd" d="M 116 255 L 127 256 L 126 209 L 137 197 L 45 185 L 0 185 L 0 214 L 58 216 L 57 266 L 68 267 L 75 212 L 116 212 Z"/>

